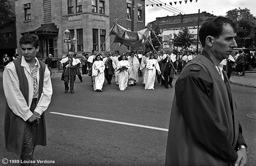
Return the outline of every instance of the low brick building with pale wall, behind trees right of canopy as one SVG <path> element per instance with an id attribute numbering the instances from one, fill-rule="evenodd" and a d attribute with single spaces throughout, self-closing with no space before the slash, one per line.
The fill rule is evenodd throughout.
<path id="1" fill-rule="evenodd" d="M 203 20 L 207 17 L 214 17 L 207 12 L 201 12 L 199 14 L 199 25 L 203 22 Z M 197 28 L 198 28 L 198 13 L 195 14 L 187 14 L 187 15 L 173 15 L 166 17 L 156 18 L 155 21 L 151 22 L 152 28 L 159 27 L 162 31 L 163 36 L 163 45 L 166 49 L 172 49 L 172 39 L 173 34 L 178 34 L 179 31 L 183 27 L 188 27 L 189 31 L 194 35 L 194 42 L 192 43 L 190 50 L 196 50 L 196 42 L 197 42 Z M 202 46 L 199 41 L 199 51 L 202 50 Z"/>

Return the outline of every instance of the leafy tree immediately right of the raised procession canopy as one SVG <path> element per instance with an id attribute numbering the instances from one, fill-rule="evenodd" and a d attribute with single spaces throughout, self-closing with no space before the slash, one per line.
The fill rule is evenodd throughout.
<path id="1" fill-rule="evenodd" d="M 160 43 L 163 40 L 163 37 L 161 36 L 162 33 L 161 33 L 161 30 L 159 29 L 159 27 L 156 27 L 155 29 L 152 29 L 152 31 L 154 31 L 154 32 L 151 32 L 151 36 L 150 36 L 151 41 L 152 41 L 152 45 L 154 46 L 155 50 L 158 51 L 162 48 L 161 43 Z M 157 38 L 156 38 L 156 36 L 157 36 Z M 146 45 L 146 52 L 149 52 L 149 51 L 154 52 L 153 47 L 151 46 L 151 44 Z"/>

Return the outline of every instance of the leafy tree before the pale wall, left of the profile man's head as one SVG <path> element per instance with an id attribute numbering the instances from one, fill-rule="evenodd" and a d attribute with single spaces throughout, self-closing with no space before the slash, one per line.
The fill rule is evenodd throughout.
<path id="1" fill-rule="evenodd" d="M 174 46 L 188 50 L 189 46 L 191 46 L 191 43 L 193 42 L 194 35 L 189 32 L 188 27 L 183 27 L 178 34 L 174 33 L 173 37 Z"/>

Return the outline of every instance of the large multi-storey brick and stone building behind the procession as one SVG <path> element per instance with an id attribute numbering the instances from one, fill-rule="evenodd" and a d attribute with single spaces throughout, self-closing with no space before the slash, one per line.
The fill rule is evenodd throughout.
<path id="1" fill-rule="evenodd" d="M 134 31 L 145 28 L 144 0 L 134 0 Z M 33 33 L 40 38 L 39 59 L 53 55 L 53 66 L 69 51 L 81 56 L 92 49 L 106 50 L 114 36 L 107 38 L 114 19 L 127 29 L 132 22 L 131 0 L 16 0 L 17 44 L 21 35 Z M 69 39 L 77 39 L 69 45 L 64 31 L 70 31 Z M 130 28 L 131 29 L 131 28 Z M 106 39 L 106 42 L 104 43 Z M 104 45 L 103 45 L 104 44 Z M 108 51 L 116 47 L 113 44 Z M 126 52 L 122 46 L 120 52 Z M 21 50 L 18 47 L 17 52 Z"/>

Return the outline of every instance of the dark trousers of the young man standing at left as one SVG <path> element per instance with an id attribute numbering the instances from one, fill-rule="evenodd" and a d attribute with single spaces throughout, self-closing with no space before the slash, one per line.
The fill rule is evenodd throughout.
<path id="1" fill-rule="evenodd" d="M 32 100 L 32 104 L 30 107 L 30 110 L 33 112 L 36 108 L 36 100 Z M 37 123 L 29 123 L 28 120 L 26 121 L 26 128 L 24 133 L 24 143 L 22 148 L 22 154 L 20 156 L 20 160 L 22 161 L 28 161 L 33 160 L 33 154 L 35 149 L 35 143 L 36 143 L 36 127 Z M 33 166 L 34 164 L 24 163 L 21 164 L 21 166 Z"/>

